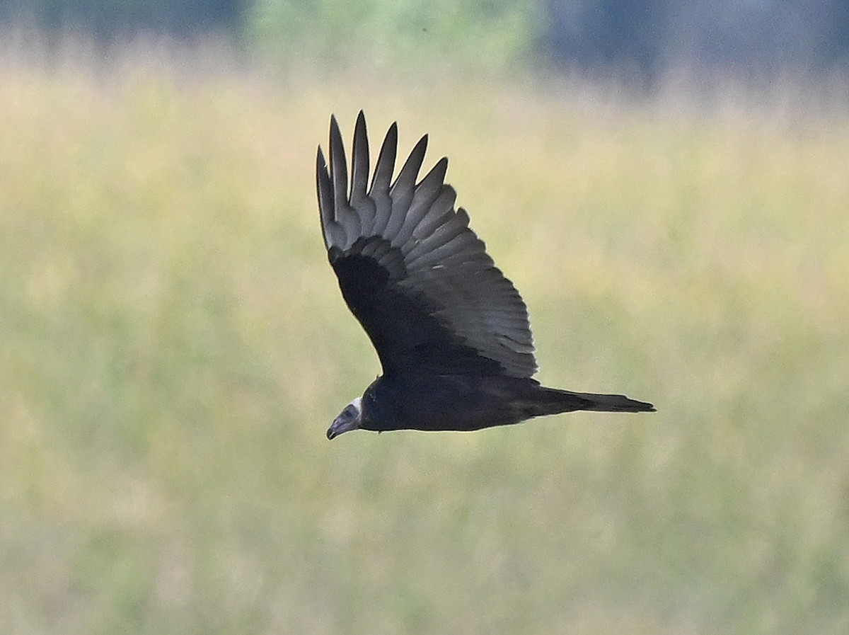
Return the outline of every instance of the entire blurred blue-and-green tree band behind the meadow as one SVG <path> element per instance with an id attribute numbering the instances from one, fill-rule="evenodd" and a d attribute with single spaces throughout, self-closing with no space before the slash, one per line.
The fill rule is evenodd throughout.
<path id="1" fill-rule="evenodd" d="M 845 0 L 0 0 L 0 28 L 82 34 L 107 49 L 214 33 L 310 72 L 559 65 L 652 85 L 682 68 L 770 81 L 849 65 Z"/>

